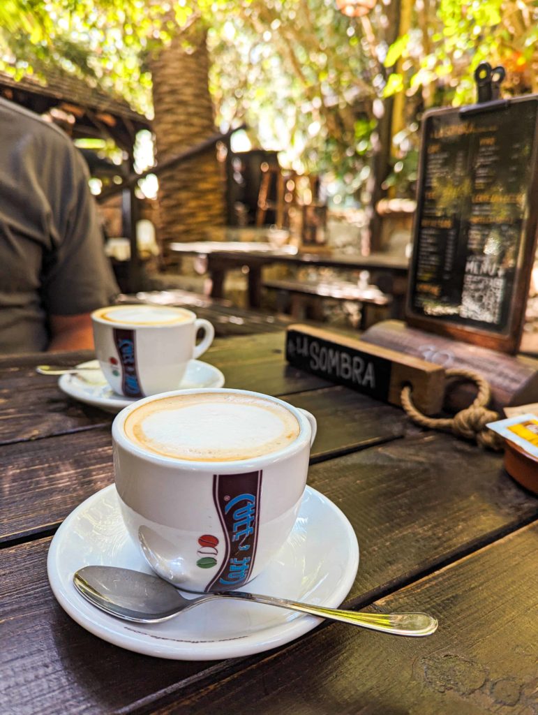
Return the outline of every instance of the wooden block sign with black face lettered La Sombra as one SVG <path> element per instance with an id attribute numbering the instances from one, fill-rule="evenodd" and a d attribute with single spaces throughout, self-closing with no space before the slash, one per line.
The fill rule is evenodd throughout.
<path id="1" fill-rule="evenodd" d="M 401 405 L 402 387 L 411 385 L 419 410 L 434 415 L 442 408 L 443 368 L 385 347 L 309 325 L 290 325 L 286 359 L 308 373 L 393 405 Z"/>

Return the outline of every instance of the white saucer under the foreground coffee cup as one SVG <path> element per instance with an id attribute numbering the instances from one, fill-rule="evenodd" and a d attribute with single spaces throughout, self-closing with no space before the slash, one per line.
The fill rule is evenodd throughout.
<path id="1" fill-rule="evenodd" d="M 151 573 L 125 531 L 114 485 L 86 499 L 66 518 L 47 559 L 54 596 L 90 633 L 136 653 L 198 661 L 282 646 L 320 622 L 283 608 L 224 599 L 202 603 L 164 623 L 121 621 L 91 606 L 76 591 L 74 572 L 92 564 Z M 352 587 L 358 566 L 359 546 L 351 524 L 332 501 L 307 487 L 287 542 L 244 590 L 336 607 Z"/>

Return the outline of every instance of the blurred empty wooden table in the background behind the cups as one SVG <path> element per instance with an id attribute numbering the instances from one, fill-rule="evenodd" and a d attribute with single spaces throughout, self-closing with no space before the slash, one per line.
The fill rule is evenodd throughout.
<path id="1" fill-rule="evenodd" d="M 381 278 L 380 285 L 385 292 L 391 292 L 395 278 L 407 276 L 409 260 L 387 253 L 362 256 L 358 253 L 344 253 L 341 250 L 307 250 L 285 245 L 272 248 L 269 244 L 241 241 L 197 241 L 191 243 L 171 243 L 169 249 L 178 255 L 196 255 L 206 260 L 206 270 L 211 277 L 211 296 L 224 296 L 224 279 L 228 270 L 248 266 L 249 306 L 261 306 L 261 269 L 273 263 L 298 265 L 301 267 L 328 267 L 342 270 L 368 270 L 374 282 Z M 389 283 L 387 283 L 387 280 Z"/>

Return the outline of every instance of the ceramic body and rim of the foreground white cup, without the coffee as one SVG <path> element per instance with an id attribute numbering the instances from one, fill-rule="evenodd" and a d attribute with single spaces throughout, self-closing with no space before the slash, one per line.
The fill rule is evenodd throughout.
<path id="1" fill-rule="evenodd" d="M 126 433 L 126 420 L 141 405 L 209 393 L 282 405 L 297 420 L 297 437 L 254 458 L 193 461 L 155 453 Z M 116 489 L 126 528 L 149 566 L 187 591 L 224 591 L 255 578 L 297 519 L 316 429 L 306 410 L 247 390 L 176 390 L 122 410 L 112 425 Z"/>

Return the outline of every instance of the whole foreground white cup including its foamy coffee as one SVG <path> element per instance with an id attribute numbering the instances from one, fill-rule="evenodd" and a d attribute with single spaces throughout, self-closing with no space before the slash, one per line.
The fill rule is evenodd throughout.
<path id="1" fill-rule="evenodd" d="M 112 425 L 121 514 L 149 566 L 189 591 L 239 588 L 297 519 L 316 420 L 247 390 L 139 400 Z"/>

